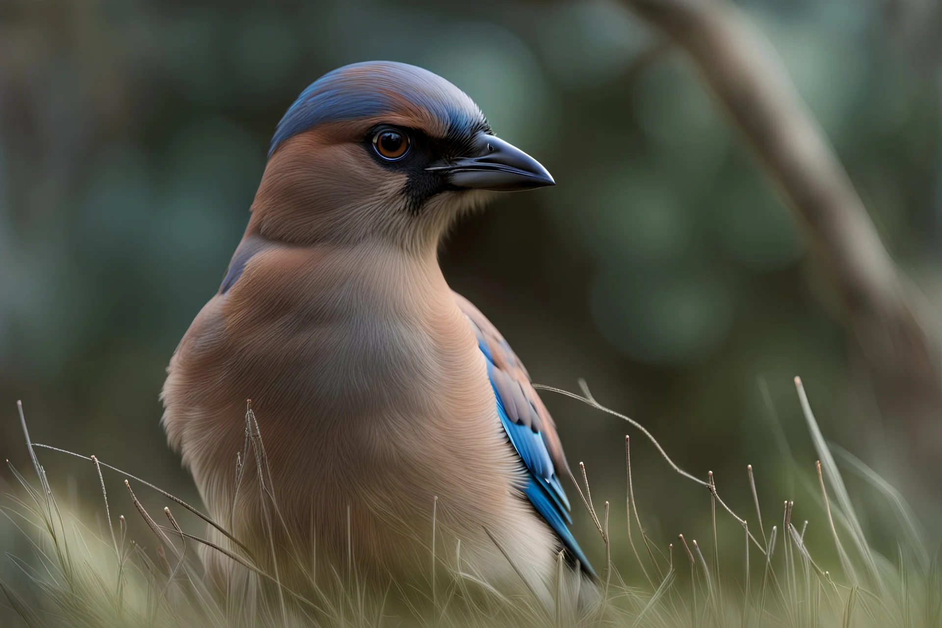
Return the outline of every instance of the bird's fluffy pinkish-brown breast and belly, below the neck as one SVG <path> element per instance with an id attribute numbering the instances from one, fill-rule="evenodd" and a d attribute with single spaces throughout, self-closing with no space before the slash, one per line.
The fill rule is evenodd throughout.
<path id="1" fill-rule="evenodd" d="M 171 443 L 210 512 L 232 514 L 260 551 L 265 497 L 250 480 L 235 491 L 233 471 L 247 398 L 284 518 L 300 538 L 316 528 L 325 561 L 343 560 L 348 535 L 378 572 L 425 556 L 433 503 L 440 533 L 481 548 L 485 528 L 528 529 L 520 460 L 474 333 L 437 264 L 409 264 L 376 251 L 259 253 L 174 355 Z"/>

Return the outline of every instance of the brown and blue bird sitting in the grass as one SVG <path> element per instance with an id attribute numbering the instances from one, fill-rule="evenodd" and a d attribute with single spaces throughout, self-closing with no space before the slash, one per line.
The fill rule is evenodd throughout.
<path id="1" fill-rule="evenodd" d="M 469 96 L 419 67 L 355 63 L 300 93 L 161 393 L 171 447 L 228 526 L 212 542 L 296 590 L 350 572 L 427 577 L 429 556 L 544 599 L 560 556 L 595 577 L 570 529 L 553 419 L 439 266 L 458 217 L 548 185 Z M 233 586 L 228 556 L 202 558 Z"/>

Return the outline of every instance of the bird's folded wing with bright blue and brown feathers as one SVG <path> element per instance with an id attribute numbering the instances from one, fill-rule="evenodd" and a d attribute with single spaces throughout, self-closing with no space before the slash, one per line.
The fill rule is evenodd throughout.
<path id="1" fill-rule="evenodd" d="M 455 301 L 467 316 L 487 362 L 487 375 L 494 389 L 500 422 L 527 467 L 525 494 L 566 549 L 586 572 L 594 576 L 592 566 L 569 531 L 568 525 L 573 520 L 569 516 L 566 491 L 562 490 L 560 483 L 560 475 L 569 474 L 569 464 L 552 417 L 533 389 L 527 369 L 491 321 L 457 293 Z"/>

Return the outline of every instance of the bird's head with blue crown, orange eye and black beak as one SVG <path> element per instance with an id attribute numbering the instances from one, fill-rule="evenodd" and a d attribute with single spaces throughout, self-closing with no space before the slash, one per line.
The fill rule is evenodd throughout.
<path id="1" fill-rule="evenodd" d="M 278 123 L 252 227 L 298 244 L 376 238 L 428 248 L 489 190 L 544 185 L 553 185 L 549 172 L 495 137 L 444 78 L 355 63 L 304 89 Z"/>

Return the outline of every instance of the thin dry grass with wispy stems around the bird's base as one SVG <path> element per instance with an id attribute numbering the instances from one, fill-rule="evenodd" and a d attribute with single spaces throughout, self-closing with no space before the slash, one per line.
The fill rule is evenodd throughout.
<path id="1" fill-rule="evenodd" d="M 8 495 L 3 507 L 8 520 L 28 539 L 33 556 L 9 556 L 20 573 L 16 586 L 0 581 L 9 620 L 18 618 L 30 627 L 46 626 L 942 626 L 942 569 L 940 556 L 931 548 L 898 491 L 863 462 L 847 452 L 829 447 L 796 378 L 799 399 L 808 431 L 819 457 L 817 480 L 821 521 L 826 521 L 836 546 L 839 565 L 817 562 L 805 545 L 807 522 L 792 521 L 793 502 L 785 502 L 781 522 L 763 521 L 755 490 L 752 467 L 747 469 L 748 486 L 755 503 L 755 524 L 734 512 L 721 498 L 712 473 L 703 480 L 677 466 L 640 424 L 601 406 L 583 384 L 583 395 L 548 389 L 581 399 L 602 411 L 624 419 L 641 431 L 676 474 L 707 489 L 712 514 L 712 551 L 683 535 L 679 544 L 660 548 L 644 532 L 635 505 L 631 475 L 630 441 L 625 438 L 628 517 L 627 540 L 634 561 L 626 571 L 642 573 L 647 585 L 629 587 L 611 563 L 609 503 L 599 515 L 593 505 L 585 467 L 580 464 L 581 485 L 573 478 L 599 536 L 605 543 L 607 565 L 601 576 L 598 596 L 579 595 L 564 585 L 564 565 L 559 556 L 555 604 L 546 608 L 527 595 L 498 591 L 474 573 L 448 572 L 445 563 L 430 556 L 430 590 L 423 596 L 390 590 L 371 597 L 354 581 L 338 583 L 339 594 L 316 588 L 313 599 L 284 587 L 277 570 L 260 570 L 239 541 L 224 526 L 213 522 L 194 507 L 133 475 L 127 475 L 95 459 L 86 459 L 101 484 L 106 525 L 98 532 L 82 523 L 76 513 L 60 507 L 37 457 L 37 449 L 55 449 L 31 443 L 21 408 L 24 436 L 36 479 L 30 481 L 12 469 L 22 485 Z M 270 482 L 261 432 L 251 408 L 246 416 L 246 444 L 238 455 L 236 476 L 247 473 L 255 459 L 254 473 Z M 869 546 L 854 511 L 851 497 L 838 471 L 837 453 L 856 475 L 869 481 L 886 498 L 900 521 L 898 556 L 878 555 Z M 797 468 L 790 459 L 789 464 Z M 122 475 L 128 497 L 151 530 L 148 539 L 132 539 L 124 518 L 111 517 L 102 469 Z M 807 479 L 806 477 L 804 479 Z M 38 486 L 36 482 L 38 481 Z M 167 523 L 158 523 L 132 490 L 144 486 L 160 492 L 174 508 L 184 508 L 229 537 L 228 548 L 211 546 L 232 557 L 252 573 L 255 585 L 273 591 L 268 596 L 250 593 L 220 600 L 203 583 L 196 546 L 208 541 L 185 531 L 164 508 Z M 806 482 L 807 483 L 807 482 Z M 270 486 L 270 484 L 268 484 Z M 270 495 L 270 492 L 268 493 Z M 113 496 L 112 496 L 113 499 Z M 234 500 L 235 501 L 235 500 Z M 270 525 L 278 525 L 277 504 L 268 504 Z M 750 515 L 751 517 L 752 515 Z M 719 521 L 718 521 L 719 518 Z M 162 518 L 161 518 L 162 521 Z M 739 562 L 739 556 L 721 556 L 717 526 L 733 523 L 742 530 L 742 560 L 745 572 L 733 576 L 721 572 L 721 564 Z M 434 528 L 434 526 L 433 526 Z M 674 547 L 676 545 L 676 547 Z M 144 546 L 154 548 L 148 552 Z M 432 543 L 434 548 L 434 542 Z M 461 564 L 461 545 L 456 548 Z M 736 558 L 736 560 L 732 560 Z M 756 569 L 758 567 L 758 569 Z M 687 573 L 689 571 L 689 574 Z M 683 572 L 683 574 L 681 574 Z M 443 577 L 444 576 L 444 577 Z M 678 577 L 681 576 L 681 577 Z M 583 585 L 586 586 L 586 585 Z M 276 593 L 276 594 L 275 594 Z M 584 591 L 583 591 L 584 593 Z M 579 603 L 577 600 L 581 599 Z M 593 600 L 586 602 L 586 600 Z M 0 609 L 0 620 L 4 619 Z M 4 623 L 4 625 L 7 625 Z"/>

